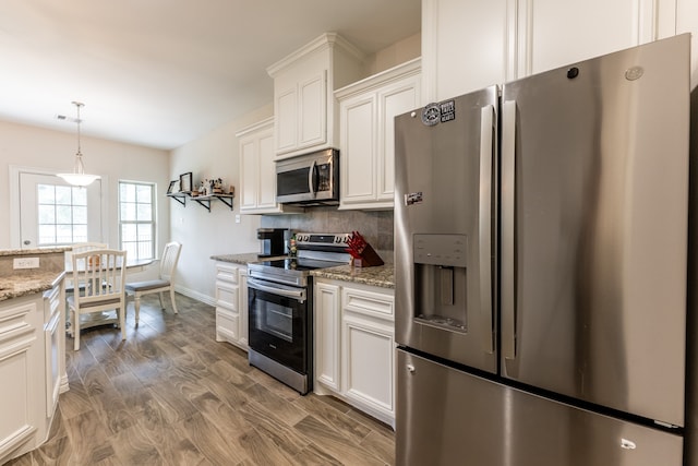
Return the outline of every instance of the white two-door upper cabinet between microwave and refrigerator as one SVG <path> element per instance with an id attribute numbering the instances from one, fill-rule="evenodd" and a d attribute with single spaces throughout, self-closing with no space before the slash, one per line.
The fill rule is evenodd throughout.
<path id="1" fill-rule="evenodd" d="M 393 208 L 395 117 L 420 106 L 421 59 L 335 93 L 339 101 L 339 210 Z"/>

